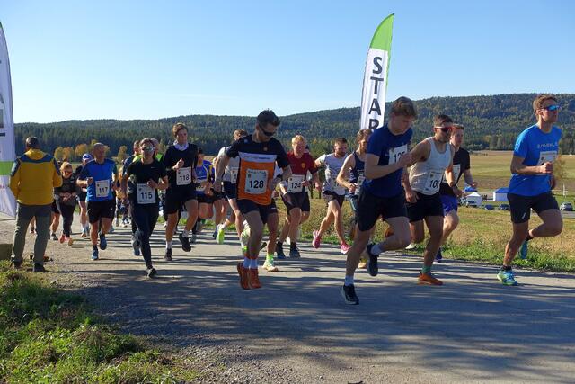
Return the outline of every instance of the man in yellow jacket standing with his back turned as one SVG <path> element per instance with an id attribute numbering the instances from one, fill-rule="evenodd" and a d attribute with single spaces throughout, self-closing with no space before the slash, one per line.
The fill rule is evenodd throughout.
<path id="1" fill-rule="evenodd" d="M 46 272 L 44 252 L 49 237 L 50 207 L 54 200 L 54 188 L 62 185 L 62 175 L 54 157 L 40 151 L 38 138 L 26 138 L 26 153 L 14 161 L 10 174 L 10 189 L 16 201 L 16 228 L 13 237 L 13 265 L 22 266 L 26 230 L 32 218 L 36 218 L 38 236 L 34 243 L 33 272 Z"/>

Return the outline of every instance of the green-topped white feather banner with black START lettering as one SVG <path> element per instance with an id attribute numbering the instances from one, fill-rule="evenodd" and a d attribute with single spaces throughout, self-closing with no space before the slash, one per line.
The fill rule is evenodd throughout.
<path id="1" fill-rule="evenodd" d="M 384 125 L 393 25 L 394 14 L 390 14 L 377 27 L 367 51 L 361 96 L 361 129 L 373 130 Z"/>

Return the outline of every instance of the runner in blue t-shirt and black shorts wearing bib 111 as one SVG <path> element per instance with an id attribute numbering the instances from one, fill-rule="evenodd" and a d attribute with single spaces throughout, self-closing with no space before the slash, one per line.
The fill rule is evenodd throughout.
<path id="1" fill-rule="evenodd" d="M 102 143 L 94 144 L 94 159 L 84 165 L 76 182 L 80 188 L 87 189 L 86 208 L 88 221 L 91 225 L 92 260 L 99 258 L 98 232 L 100 232 L 100 249 L 103 251 L 108 246 L 106 234 L 111 227 L 111 220 L 116 208 L 116 201 L 111 190 L 115 181 L 118 180 L 118 170 L 116 163 L 105 158 L 105 153 L 106 147 Z M 100 225 L 101 220 L 102 226 Z"/>

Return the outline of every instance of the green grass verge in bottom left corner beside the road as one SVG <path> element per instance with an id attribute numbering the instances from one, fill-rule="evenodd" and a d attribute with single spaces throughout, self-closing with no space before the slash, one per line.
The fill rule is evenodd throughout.
<path id="1" fill-rule="evenodd" d="M 0 263 L 1 382 L 182 382 L 198 378 L 189 363 L 121 334 L 82 297 Z"/>

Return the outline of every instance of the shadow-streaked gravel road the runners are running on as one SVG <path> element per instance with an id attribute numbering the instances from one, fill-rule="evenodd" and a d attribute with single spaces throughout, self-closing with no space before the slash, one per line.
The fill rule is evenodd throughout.
<path id="1" fill-rule="evenodd" d="M 12 228 L 0 220 L 3 237 Z M 301 246 L 301 259 L 279 261 L 281 272 L 261 272 L 261 290 L 244 291 L 236 241 L 218 246 L 204 233 L 165 263 L 162 232 L 155 280 L 131 255 L 128 228 L 108 237 L 98 262 L 86 240 L 50 241 L 47 268 L 126 331 L 204 356 L 206 381 L 572 381 L 573 275 L 517 271 L 521 285 L 504 287 L 492 266 L 447 262 L 435 267 L 445 285 L 429 287 L 415 282 L 420 258 L 385 255 L 380 276 L 357 274 L 361 303 L 347 306 L 345 259 L 332 246 Z"/>

